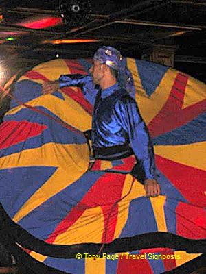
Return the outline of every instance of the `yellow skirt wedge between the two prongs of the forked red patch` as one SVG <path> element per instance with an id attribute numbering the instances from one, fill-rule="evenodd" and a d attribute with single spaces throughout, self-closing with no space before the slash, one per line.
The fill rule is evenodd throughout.
<path id="1" fill-rule="evenodd" d="M 101 207 L 89 208 L 66 232 L 56 238 L 54 244 L 73 245 L 84 242 L 101 242 L 103 232 L 104 215 Z"/>

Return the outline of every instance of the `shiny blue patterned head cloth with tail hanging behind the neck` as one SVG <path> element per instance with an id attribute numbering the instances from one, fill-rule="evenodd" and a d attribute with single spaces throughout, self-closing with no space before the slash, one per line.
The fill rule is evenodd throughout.
<path id="1" fill-rule="evenodd" d="M 103 46 L 95 52 L 93 59 L 118 71 L 117 81 L 120 86 L 135 95 L 132 73 L 128 70 L 120 51 L 117 51 L 114 47 Z"/>

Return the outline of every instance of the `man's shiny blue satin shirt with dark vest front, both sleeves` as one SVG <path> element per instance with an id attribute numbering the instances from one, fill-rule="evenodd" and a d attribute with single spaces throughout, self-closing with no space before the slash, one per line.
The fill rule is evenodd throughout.
<path id="1" fill-rule="evenodd" d="M 60 88 L 80 86 L 94 105 L 92 121 L 93 147 L 130 144 L 144 179 L 155 179 L 155 155 L 148 129 L 132 96 L 115 84 L 105 90 L 95 86 L 91 76 L 61 75 Z"/>

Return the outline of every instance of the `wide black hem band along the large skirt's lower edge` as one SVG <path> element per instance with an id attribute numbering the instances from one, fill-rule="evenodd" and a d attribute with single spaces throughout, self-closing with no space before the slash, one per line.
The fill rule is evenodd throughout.
<path id="1" fill-rule="evenodd" d="M 25 229 L 14 223 L 0 207 L 0 229 L 19 245 L 55 258 L 76 258 L 76 253 L 96 254 L 102 244 L 85 243 L 76 245 L 52 245 L 35 238 Z M 188 253 L 206 253 L 206 240 L 191 240 L 166 232 L 152 232 L 133 237 L 119 238 L 105 244 L 102 253 L 119 253 L 155 247 L 168 247 Z"/>

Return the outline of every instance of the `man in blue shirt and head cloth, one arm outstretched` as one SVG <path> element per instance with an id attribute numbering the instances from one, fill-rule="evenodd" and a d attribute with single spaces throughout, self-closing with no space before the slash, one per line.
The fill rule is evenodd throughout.
<path id="1" fill-rule="evenodd" d="M 63 86 L 81 86 L 82 92 L 96 92 L 91 140 L 96 158 L 124 158 L 130 151 L 137 158 L 132 175 L 144 184 L 147 197 L 156 197 L 160 187 L 155 179 L 155 156 L 148 129 L 133 99 L 133 77 L 122 55 L 113 47 L 101 47 L 93 57 L 90 76 L 61 75 L 43 84 L 43 93 Z M 93 80 L 93 83 L 91 82 Z M 98 85 L 93 86 L 93 84 Z"/>

